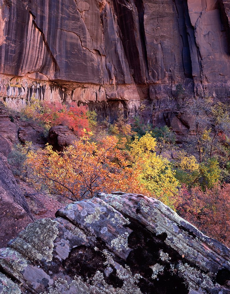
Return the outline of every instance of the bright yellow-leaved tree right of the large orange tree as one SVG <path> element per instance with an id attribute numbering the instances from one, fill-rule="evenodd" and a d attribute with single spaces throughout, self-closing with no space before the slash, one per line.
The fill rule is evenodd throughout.
<path id="1" fill-rule="evenodd" d="M 135 138 L 131 144 L 131 154 L 136 164 L 141 166 L 139 181 L 154 197 L 173 208 L 174 194 L 177 193 L 179 181 L 167 158 L 157 156 L 154 152 L 156 140 L 151 133 L 140 139 Z"/>

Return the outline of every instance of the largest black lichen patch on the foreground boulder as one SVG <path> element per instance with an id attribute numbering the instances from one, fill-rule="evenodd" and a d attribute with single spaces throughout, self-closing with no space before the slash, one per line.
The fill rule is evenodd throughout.
<path id="1" fill-rule="evenodd" d="M 141 292 L 144 294 L 189 293 L 185 280 L 171 270 L 171 264 L 182 261 L 182 257 L 165 243 L 167 234 L 165 232 L 160 235 L 151 233 L 144 226 L 136 223 L 135 220 L 131 220 L 131 223 L 127 226 L 133 232 L 128 237 L 128 246 L 132 250 L 126 259 L 126 263 L 133 274 L 139 273 L 142 275 L 142 278 L 136 284 Z M 167 253 L 168 258 L 167 255 L 165 258 L 161 258 L 162 253 Z M 157 278 L 153 278 L 154 271 L 151 266 L 156 263 L 164 266 L 164 270 L 156 273 Z"/>

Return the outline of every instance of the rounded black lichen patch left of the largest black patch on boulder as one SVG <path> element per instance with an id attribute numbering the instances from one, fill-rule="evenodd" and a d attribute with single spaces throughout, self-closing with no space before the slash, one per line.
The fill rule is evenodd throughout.
<path id="1" fill-rule="evenodd" d="M 104 272 L 105 261 L 101 251 L 81 245 L 71 250 L 69 257 L 63 260 L 63 266 L 70 276 L 80 275 L 86 280 L 86 277 L 94 276 L 97 270 Z"/>

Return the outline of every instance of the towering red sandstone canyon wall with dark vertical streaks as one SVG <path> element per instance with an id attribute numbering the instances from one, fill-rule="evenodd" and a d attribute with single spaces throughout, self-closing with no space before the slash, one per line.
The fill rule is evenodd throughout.
<path id="1" fill-rule="evenodd" d="M 74 100 L 113 119 L 153 100 L 161 125 L 179 82 L 189 96 L 230 96 L 229 1 L 0 4 L 0 96 L 11 106 Z"/>

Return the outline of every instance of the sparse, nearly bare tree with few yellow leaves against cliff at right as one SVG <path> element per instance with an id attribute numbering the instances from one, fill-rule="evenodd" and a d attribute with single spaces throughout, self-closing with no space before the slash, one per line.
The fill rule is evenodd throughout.
<path id="1" fill-rule="evenodd" d="M 198 151 L 200 163 L 204 157 L 219 157 L 226 162 L 229 156 L 230 107 L 211 98 L 190 99 L 184 110 L 191 117 L 189 129 L 190 152 Z M 182 107 L 182 108 L 183 108 Z M 193 139 L 191 139 L 193 137 Z M 224 159 L 225 158 L 225 159 Z"/>

